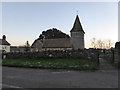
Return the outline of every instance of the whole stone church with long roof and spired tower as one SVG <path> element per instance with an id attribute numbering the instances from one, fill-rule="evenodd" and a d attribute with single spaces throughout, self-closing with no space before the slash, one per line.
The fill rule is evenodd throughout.
<path id="1" fill-rule="evenodd" d="M 56 38 L 56 39 L 36 39 L 31 45 L 33 52 L 45 50 L 78 50 L 84 49 L 84 30 L 82 28 L 79 16 L 76 16 L 74 25 L 70 30 L 70 38 Z"/>

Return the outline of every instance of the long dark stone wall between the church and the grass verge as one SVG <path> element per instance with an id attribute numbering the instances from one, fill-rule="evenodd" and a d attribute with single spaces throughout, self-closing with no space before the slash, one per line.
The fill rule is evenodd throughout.
<path id="1" fill-rule="evenodd" d="M 4 54 L 3 54 L 4 55 Z M 17 59 L 17 58 L 29 58 L 29 59 L 40 59 L 40 58 L 79 58 L 98 60 L 98 52 L 96 50 L 64 50 L 64 51 L 42 51 L 42 52 L 26 52 L 26 53 L 6 53 L 6 58 Z"/>

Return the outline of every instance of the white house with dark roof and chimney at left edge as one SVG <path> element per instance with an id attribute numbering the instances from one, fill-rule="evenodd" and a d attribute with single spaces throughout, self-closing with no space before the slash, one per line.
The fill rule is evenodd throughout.
<path id="1" fill-rule="evenodd" d="M 5 35 L 3 35 L 2 39 L 0 39 L 0 51 L 10 52 L 10 43 L 6 40 Z"/>

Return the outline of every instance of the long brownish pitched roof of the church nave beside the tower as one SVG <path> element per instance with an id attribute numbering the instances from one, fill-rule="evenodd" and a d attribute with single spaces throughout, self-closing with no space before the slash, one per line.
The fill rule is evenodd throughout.
<path id="1" fill-rule="evenodd" d="M 43 48 L 71 48 L 70 38 L 45 39 Z"/>

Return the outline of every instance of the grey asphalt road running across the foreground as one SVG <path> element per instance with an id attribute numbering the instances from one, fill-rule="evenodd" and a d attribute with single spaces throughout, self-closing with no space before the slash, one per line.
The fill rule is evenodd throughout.
<path id="1" fill-rule="evenodd" d="M 3 88 L 117 88 L 118 73 L 3 67 L 2 84 Z"/>

